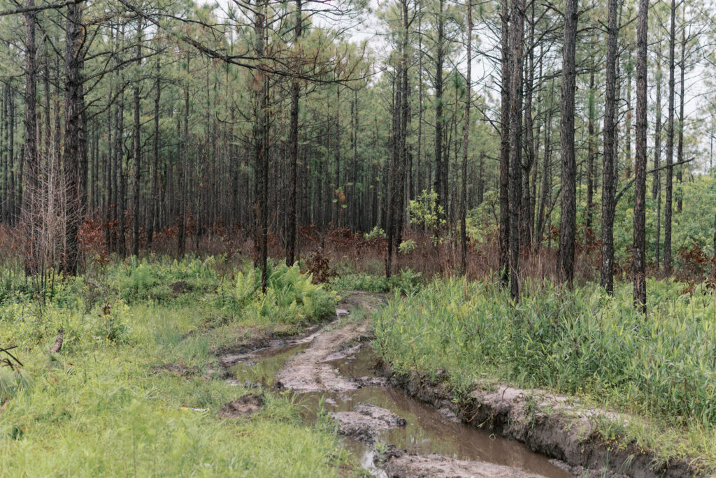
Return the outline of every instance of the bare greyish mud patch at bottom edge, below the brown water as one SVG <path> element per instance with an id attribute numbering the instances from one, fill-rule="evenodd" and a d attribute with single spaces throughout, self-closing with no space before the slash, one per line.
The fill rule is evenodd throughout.
<path id="1" fill-rule="evenodd" d="M 444 457 L 439 454 L 416 455 L 390 447 L 376 462 L 390 478 L 539 478 L 542 475 L 512 467 Z"/>

